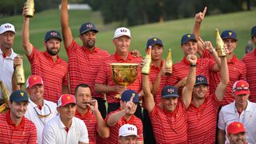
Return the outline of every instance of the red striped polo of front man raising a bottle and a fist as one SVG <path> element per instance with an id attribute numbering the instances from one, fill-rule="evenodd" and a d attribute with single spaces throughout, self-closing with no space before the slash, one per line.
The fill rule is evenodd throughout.
<path id="1" fill-rule="evenodd" d="M 150 119 L 157 143 L 187 143 L 186 107 L 183 102 L 178 102 L 173 113 L 154 106 Z"/>

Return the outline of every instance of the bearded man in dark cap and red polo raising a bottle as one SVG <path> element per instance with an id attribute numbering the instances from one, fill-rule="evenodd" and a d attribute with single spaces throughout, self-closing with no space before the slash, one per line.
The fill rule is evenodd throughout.
<path id="1" fill-rule="evenodd" d="M 57 102 L 61 94 L 69 93 L 68 88 L 68 66 L 58 56 L 61 48 L 62 36 L 56 30 L 46 33 L 44 47 L 46 51 L 41 52 L 30 43 L 30 18 L 26 18 L 27 7 L 23 7 L 22 46 L 26 57 L 30 61 L 31 74 L 42 77 L 45 86 L 44 98 Z"/>

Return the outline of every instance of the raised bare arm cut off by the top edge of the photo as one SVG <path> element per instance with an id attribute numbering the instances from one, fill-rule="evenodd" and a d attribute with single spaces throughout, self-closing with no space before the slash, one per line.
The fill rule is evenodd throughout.
<path id="1" fill-rule="evenodd" d="M 67 50 L 73 41 L 72 32 L 69 26 L 69 14 L 67 10 L 67 0 L 62 0 L 61 6 L 61 25 L 62 25 L 62 36 L 64 41 L 65 49 Z"/>

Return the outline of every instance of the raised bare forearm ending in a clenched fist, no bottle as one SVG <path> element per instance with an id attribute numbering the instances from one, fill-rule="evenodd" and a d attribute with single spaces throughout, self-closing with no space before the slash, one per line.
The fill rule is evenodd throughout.
<path id="1" fill-rule="evenodd" d="M 197 57 L 196 55 L 189 54 L 186 58 L 190 62 L 190 72 L 186 78 L 186 85 L 182 89 L 182 101 L 187 108 L 190 106 L 192 92 L 194 89 Z"/>

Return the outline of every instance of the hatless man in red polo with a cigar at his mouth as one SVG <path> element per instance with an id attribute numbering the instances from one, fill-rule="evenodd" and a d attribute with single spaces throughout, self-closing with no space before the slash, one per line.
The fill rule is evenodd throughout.
<path id="1" fill-rule="evenodd" d="M 110 129 L 98 110 L 98 102 L 92 99 L 90 86 L 80 84 L 75 87 L 77 110 L 75 117 L 86 123 L 90 144 L 96 144 L 98 135 L 102 138 L 110 136 Z"/>

